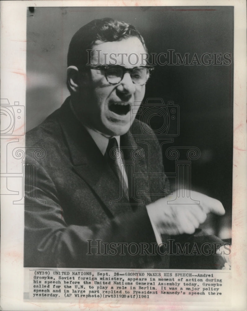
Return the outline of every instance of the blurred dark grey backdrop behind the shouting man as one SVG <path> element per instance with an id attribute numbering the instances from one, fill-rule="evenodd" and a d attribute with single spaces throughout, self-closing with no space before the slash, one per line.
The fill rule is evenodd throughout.
<path id="1" fill-rule="evenodd" d="M 231 236 L 233 137 L 233 7 L 36 7 L 27 10 L 26 130 L 41 123 L 69 95 L 66 61 L 70 39 L 95 18 L 112 17 L 136 26 L 149 53 L 231 53 L 230 65 L 156 66 L 148 97 L 180 108 L 180 135 L 169 146 L 196 146 L 192 189 L 220 200 L 226 216 L 203 225 Z M 143 101 L 143 102 L 144 102 Z M 157 118 L 154 124 L 160 120 Z M 158 126 L 157 125 L 157 126 Z M 164 159 L 165 171 L 174 162 Z M 173 184 L 173 180 L 171 180 Z"/>

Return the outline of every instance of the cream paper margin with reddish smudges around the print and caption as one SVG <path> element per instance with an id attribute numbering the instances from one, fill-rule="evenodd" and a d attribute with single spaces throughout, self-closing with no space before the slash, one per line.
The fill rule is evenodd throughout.
<path id="1" fill-rule="evenodd" d="M 218 305 L 218 310 L 244 310 L 246 308 L 246 4 L 244 1 L 5 1 L 1 2 L 1 98 L 9 102 L 25 106 L 26 97 L 26 7 L 39 6 L 234 6 L 234 150 L 233 150 L 233 193 L 232 193 L 232 293 L 231 302 Z M 12 84 L 18 84 L 13 89 Z M 2 137 L 1 137 L 2 138 Z M 24 146 L 23 134 L 14 137 Z M 2 147 L 2 146 L 1 146 Z M 1 159 L 1 171 L 7 165 Z M 13 163 L 14 165 L 14 163 Z M 11 163 L 10 163 L 11 166 Z M 20 168 L 19 168 L 20 169 Z M 15 173 L 15 171 L 13 171 Z M 21 181 L 15 180 L 20 189 Z M 1 196 L 1 308 L 2 310 L 33 309 L 78 309 L 78 305 L 51 302 L 23 301 L 24 268 L 23 268 L 23 228 L 24 215 L 22 205 L 10 205 L 10 197 Z M 27 284 L 28 282 L 25 282 Z M 229 293 L 228 293 L 229 294 Z M 37 306 L 36 306 L 36 305 Z M 112 305 L 111 307 L 117 307 Z M 142 309 L 143 305 L 118 305 L 118 310 Z M 151 306 L 145 306 L 151 307 Z M 214 306 L 188 303 L 178 308 L 193 310 L 214 310 Z M 102 308 L 108 306 L 94 301 L 86 308 Z M 164 306 L 169 310 L 170 305 Z M 231 309 L 230 309 L 231 308 Z M 160 309 L 153 305 L 152 309 Z"/>

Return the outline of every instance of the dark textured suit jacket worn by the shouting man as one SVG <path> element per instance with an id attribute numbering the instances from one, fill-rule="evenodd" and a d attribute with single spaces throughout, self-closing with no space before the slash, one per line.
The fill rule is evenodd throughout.
<path id="1" fill-rule="evenodd" d="M 131 132 L 141 134 L 138 120 Z M 125 160 L 131 159 L 133 148 L 143 148 L 144 157 L 135 160 L 136 173 L 161 170 L 157 140 L 150 140 L 148 146 L 126 133 L 121 137 L 121 146 L 127 147 Z M 184 256 L 150 255 L 151 250 L 133 255 L 136 245 L 156 245 L 146 205 L 159 196 L 138 195 L 143 201 L 138 206 L 131 206 L 128 200 L 124 202 L 126 205 L 110 204 L 110 200 L 119 197 L 119 182 L 91 136 L 73 115 L 69 98 L 26 134 L 26 147 L 42 147 L 46 156 L 37 161 L 34 190 L 26 187 L 25 267 L 221 268 L 215 267 L 214 257 L 209 264 L 209 257 L 199 262 L 198 256 L 194 256 L 193 261 Z M 27 151 L 26 160 L 30 159 Z M 162 188 L 168 190 L 168 180 L 164 178 L 162 182 Z M 150 193 L 157 193 L 157 189 L 161 192 L 160 181 L 153 178 L 149 183 L 147 177 L 135 179 L 136 193 L 148 188 Z M 38 204 L 37 199 L 45 204 Z M 168 238 L 163 237 L 164 241 Z M 201 244 L 209 239 L 221 242 L 216 237 L 205 237 L 201 231 L 175 238 L 183 242 L 196 239 Z M 128 254 L 125 247 L 122 254 L 117 248 L 116 254 L 104 255 L 109 249 L 103 243 L 135 245 L 131 248 L 132 254 Z M 90 248 L 90 245 L 100 248 Z"/>

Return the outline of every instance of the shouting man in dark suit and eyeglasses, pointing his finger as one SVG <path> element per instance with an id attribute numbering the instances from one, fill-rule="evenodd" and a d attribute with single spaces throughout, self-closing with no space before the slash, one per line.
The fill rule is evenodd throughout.
<path id="1" fill-rule="evenodd" d="M 135 65 L 123 59 L 131 53 Z M 131 127 L 131 133 L 142 135 L 130 107 L 143 100 L 152 70 L 143 64 L 145 53 L 135 27 L 108 18 L 73 36 L 67 72 L 71 96 L 26 134 L 26 146 L 42 147 L 46 156 L 37 162 L 36 184 L 26 187 L 24 266 L 223 266 L 212 246 L 222 241 L 197 230 L 208 212 L 224 214 L 222 204 L 195 192 L 198 205 L 168 204 L 165 175 L 162 187 L 145 175 L 161 171 L 157 140 L 147 145 L 130 134 Z M 112 157 L 114 151 L 121 157 Z M 133 168 L 138 178 L 133 179 Z M 147 189 L 160 194 L 145 194 Z M 181 247 L 190 243 L 190 251 L 196 242 L 203 252 L 192 253 L 193 260 L 176 256 L 177 249 L 169 256 L 173 240 Z"/>

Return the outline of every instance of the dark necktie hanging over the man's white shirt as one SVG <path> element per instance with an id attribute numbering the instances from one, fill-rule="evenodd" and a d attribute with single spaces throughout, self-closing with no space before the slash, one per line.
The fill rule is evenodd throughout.
<path id="1" fill-rule="evenodd" d="M 124 177 L 120 172 L 120 168 L 117 162 L 116 157 L 114 157 L 114 154 L 119 154 L 119 149 L 118 149 L 118 144 L 117 144 L 117 140 L 115 137 L 112 137 L 109 139 L 108 142 L 108 146 L 106 148 L 106 152 L 105 152 L 105 158 L 108 161 L 112 171 L 115 173 L 115 175 L 117 176 L 118 180 L 121 183 L 121 191 L 122 191 L 122 195 L 127 197 L 128 196 L 128 188 L 127 185 L 125 183 Z M 121 196 L 122 196 L 121 195 Z"/>

